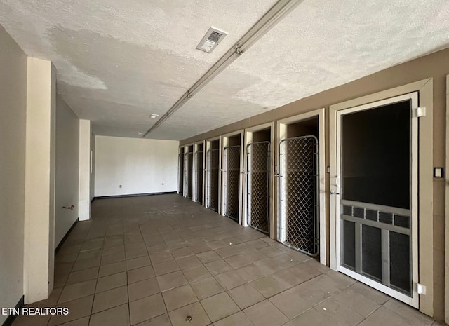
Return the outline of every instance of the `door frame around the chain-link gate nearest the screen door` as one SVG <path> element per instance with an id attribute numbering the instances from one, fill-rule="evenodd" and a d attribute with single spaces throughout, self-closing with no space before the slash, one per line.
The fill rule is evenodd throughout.
<path id="1" fill-rule="evenodd" d="M 278 164 L 281 162 L 279 158 L 279 147 L 281 141 L 287 138 L 287 125 L 298 123 L 304 120 L 309 120 L 310 118 L 318 118 L 318 146 L 319 146 L 319 224 L 320 224 L 320 245 L 319 245 L 319 256 L 320 263 L 326 265 L 326 118 L 325 109 L 316 109 L 309 111 L 307 113 L 298 114 L 297 116 L 290 116 L 289 118 L 284 118 L 276 121 L 278 130 L 278 139 L 276 140 L 276 156 Z M 276 239 L 279 239 L 279 217 L 281 216 L 281 205 L 279 205 L 279 199 L 281 198 L 281 183 L 279 182 L 279 166 L 276 167 Z"/>

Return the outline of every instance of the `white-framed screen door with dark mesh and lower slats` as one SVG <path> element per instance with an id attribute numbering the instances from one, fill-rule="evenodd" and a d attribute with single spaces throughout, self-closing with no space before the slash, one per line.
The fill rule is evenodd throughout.
<path id="1" fill-rule="evenodd" d="M 416 107 L 411 93 L 337 112 L 331 195 L 339 270 L 417 307 Z"/>

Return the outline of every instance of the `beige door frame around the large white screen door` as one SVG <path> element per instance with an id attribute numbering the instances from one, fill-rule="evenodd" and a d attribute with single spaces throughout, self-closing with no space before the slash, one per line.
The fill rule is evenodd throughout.
<path id="1" fill-rule="evenodd" d="M 338 193 L 339 186 L 337 185 L 337 172 L 339 164 L 337 162 L 337 145 L 339 143 L 337 135 L 337 116 L 338 111 L 359 107 L 364 104 L 370 104 L 382 100 L 387 100 L 391 97 L 397 97 L 408 93 L 418 92 L 418 106 L 426 107 L 426 115 L 422 116 L 419 121 L 418 129 L 418 187 L 420 189 L 420 196 L 418 196 L 418 222 L 417 222 L 417 254 L 419 260 L 417 262 L 417 280 L 421 285 L 424 285 L 426 294 L 419 294 L 419 308 L 420 311 L 427 315 L 434 314 L 434 248 L 433 248 L 433 79 L 424 79 L 416 81 L 404 86 L 398 86 L 389 90 L 384 90 L 379 93 L 366 95 L 354 100 L 334 104 L 330 106 L 330 191 Z M 414 109 L 414 108 L 413 108 Z M 337 196 L 330 196 L 330 268 L 337 270 L 339 266 L 338 260 L 340 243 L 340 236 L 337 234 L 337 223 L 339 217 L 336 213 L 339 205 Z M 417 259 L 417 257 L 416 257 Z M 369 284 L 368 284 L 369 285 Z M 377 283 L 376 283 L 377 285 Z M 413 289 L 416 290 L 417 283 L 413 284 Z"/>

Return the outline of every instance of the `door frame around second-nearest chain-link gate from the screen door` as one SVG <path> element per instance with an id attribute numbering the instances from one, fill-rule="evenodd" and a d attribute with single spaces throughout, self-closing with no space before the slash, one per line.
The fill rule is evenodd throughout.
<path id="1" fill-rule="evenodd" d="M 246 151 L 246 147 L 248 144 L 253 142 L 253 133 L 257 133 L 257 131 L 269 129 L 271 132 L 270 136 L 270 149 L 269 149 L 269 237 L 274 239 L 276 232 L 274 231 L 274 212 L 275 210 L 275 192 L 276 186 L 274 184 L 275 181 L 275 173 L 274 173 L 274 162 L 275 162 L 275 146 L 274 142 L 276 139 L 276 134 L 274 133 L 274 121 L 269 123 L 264 123 L 262 125 L 256 125 L 255 127 L 246 128 L 245 129 L 245 141 L 243 146 L 243 213 L 242 213 L 242 225 L 248 226 L 248 152 Z"/>

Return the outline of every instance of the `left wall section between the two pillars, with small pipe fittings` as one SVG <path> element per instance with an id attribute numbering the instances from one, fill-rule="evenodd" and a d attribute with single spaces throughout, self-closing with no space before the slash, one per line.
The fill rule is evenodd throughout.
<path id="1" fill-rule="evenodd" d="M 55 247 L 79 214 L 79 118 L 60 96 L 56 98 Z M 67 210 L 74 205 L 73 210 Z"/>

